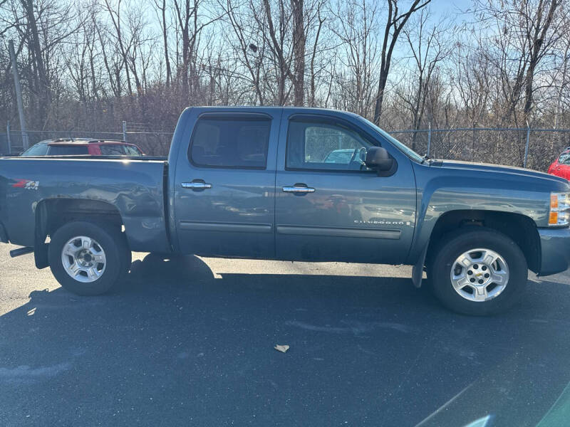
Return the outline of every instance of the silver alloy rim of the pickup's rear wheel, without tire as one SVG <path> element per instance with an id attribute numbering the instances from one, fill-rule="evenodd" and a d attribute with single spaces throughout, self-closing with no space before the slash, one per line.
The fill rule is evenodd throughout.
<path id="1" fill-rule="evenodd" d="M 105 251 L 93 238 L 77 236 L 69 239 L 61 251 L 61 263 L 73 280 L 92 283 L 105 273 Z"/>

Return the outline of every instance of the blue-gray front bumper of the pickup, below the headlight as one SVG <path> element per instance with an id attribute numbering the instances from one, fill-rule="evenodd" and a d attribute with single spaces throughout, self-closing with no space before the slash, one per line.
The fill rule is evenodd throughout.
<path id="1" fill-rule="evenodd" d="M 539 228 L 541 265 L 539 275 L 551 275 L 570 266 L 570 228 Z"/>

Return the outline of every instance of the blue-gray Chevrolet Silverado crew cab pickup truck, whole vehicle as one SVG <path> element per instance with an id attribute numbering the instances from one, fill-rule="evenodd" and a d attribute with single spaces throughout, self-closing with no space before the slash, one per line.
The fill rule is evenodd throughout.
<path id="1" fill-rule="evenodd" d="M 168 159 L 0 159 L 0 241 L 81 295 L 131 251 L 413 265 L 457 312 L 512 305 L 570 259 L 569 181 L 421 157 L 348 112 L 191 107 Z M 423 272 L 427 280 L 423 280 Z"/>

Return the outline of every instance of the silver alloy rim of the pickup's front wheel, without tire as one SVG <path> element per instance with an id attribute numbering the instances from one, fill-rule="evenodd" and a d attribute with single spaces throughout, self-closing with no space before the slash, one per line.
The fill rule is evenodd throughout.
<path id="1" fill-rule="evenodd" d="M 497 252 L 471 249 L 457 257 L 451 266 L 453 289 L 466 300 L 492 300 L 509 282 L 509 267 Z"/>

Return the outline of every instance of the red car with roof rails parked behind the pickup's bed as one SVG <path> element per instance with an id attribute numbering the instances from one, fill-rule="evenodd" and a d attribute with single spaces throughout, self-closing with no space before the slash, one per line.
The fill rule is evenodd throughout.
<path id="1" fill-rule="evenodd" d="M 23 157 L 30 156 L 143 156 L 135 144 L 123 141 L 102 139 L 46 139 L 34 144 L 25 152 Z"/>

